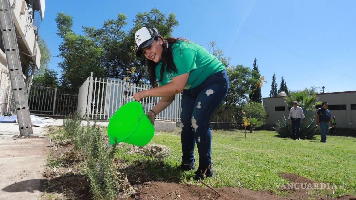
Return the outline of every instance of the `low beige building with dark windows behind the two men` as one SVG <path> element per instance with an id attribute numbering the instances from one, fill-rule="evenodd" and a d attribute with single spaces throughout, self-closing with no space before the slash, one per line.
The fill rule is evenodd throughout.
<path id="1" fill-rule="evenodd" d="M 319 97 L 318 101 L 328 102 L 331 116 L 336 117 L 337 128 L 356 128 L 356 91 L 319 93 L 316 96 Z M 292 105 L 288 107 L 283 97 L 263 98 L 268 114 L 267 125 L 274 125 L 283 115 L 288 118 Z"/>

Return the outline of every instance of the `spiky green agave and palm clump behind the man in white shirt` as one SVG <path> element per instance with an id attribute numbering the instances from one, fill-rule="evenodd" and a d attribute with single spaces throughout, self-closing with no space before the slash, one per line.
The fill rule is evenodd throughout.
<path id="1" fill-rule="evenodd" d="M 315 105 L 321 104 L 321 101 L 318 101 L 316 93 L 309 94 L 308 91 L 293 91 L 290 93 L 290 96 L 284 97 L 286 104 L 292 106 L 293 101 L 298 102 L 298 106 L 302 107 L 305 115 L 305 123 L 300 125 L 300 138 L 305 139 L 315 139 L 315 135 L 319 132 L 318 126 L 314 122 L 314 110 Z M 278 137 L 288 137 L 292 138 L 292 127 L 288 123 L 288 119 L 283 115 L 282 119 L 279 119 L 276 122 L 276 127 L 272 127 L 278 133 Z"/>

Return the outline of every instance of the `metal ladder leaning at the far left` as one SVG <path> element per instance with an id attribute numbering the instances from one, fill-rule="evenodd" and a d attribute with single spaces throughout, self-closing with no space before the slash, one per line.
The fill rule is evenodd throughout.
<path id="1" fill-rule="evenodd" d="M 33 134 L 30 110 L 28 109 L 19 47 L 17 46 L 14 19 L 12 18 L 12 10 L 9 0 L 0 0 L 0 26 L 20 135 L 30 136 Z"/>

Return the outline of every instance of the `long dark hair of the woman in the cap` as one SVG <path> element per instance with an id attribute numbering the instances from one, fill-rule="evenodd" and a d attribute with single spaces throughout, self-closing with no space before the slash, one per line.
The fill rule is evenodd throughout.
<path id="1" fill-rule="evenodd" d="M 174 65 L 173 62 L 173 56 L 172 56 L 172 52 L 171 49 L 169 48 L 169 44 L 173 44 L 176 43 L 178 40 L 182 40 L 182 41 L 188 41 L 185 38 L 176 38 L 176 37 L 169 37 L 169 38 L 162 38 L 163 44 L 163 51 L 162 51 L 162 67 L 161 70 L 159 72 L 160 74 L 160 79 L 158 80 L 158 82 L 162 81 L 163 79 L 163 73 L 164 71 L 168 71 L 168 72 L 174 72 L 177 73 L 177 68 L 176 65 Z M 155 40 L 158 41 L 158 37 L 155 37 Z M 148 67 L 148 72 L 150 72 L 150 83 L 152 88 L 157 86 L 157 81 L 156 81 L 156 73 L 155 73 L 155 68 L 157 66 L 157 63 L 153 62 L 152 60 L 147 59 L 147 67 Z"/>

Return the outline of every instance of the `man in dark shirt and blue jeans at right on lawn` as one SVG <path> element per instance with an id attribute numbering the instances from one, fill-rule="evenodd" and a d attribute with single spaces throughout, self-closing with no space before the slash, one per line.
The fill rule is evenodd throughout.
<path id="1" fill-rule="evenodd" d="M 315 122 L 316 126 L 320 125 L 320 142 L 326 142 L 326 133 L 329 130 L 329 123 L 331 123 L 332 119 L 330 115 L 330 110 L 328 109 L 328 102 L 323 102 L 321 106 L 323 107 L 319 108 L 315 112 Z"/>

